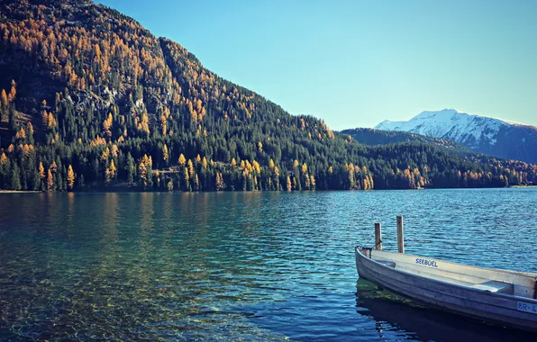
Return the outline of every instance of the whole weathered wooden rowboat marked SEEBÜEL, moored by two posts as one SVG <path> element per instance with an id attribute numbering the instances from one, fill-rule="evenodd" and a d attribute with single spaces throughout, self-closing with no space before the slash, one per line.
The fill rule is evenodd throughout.
<path id="1" fill-rule="evenodd" d="M 355 257 L 360 278 L 389 291 L 441 310 L 537 331 L 537 274 L 466 266 L 360 245 Z"/>

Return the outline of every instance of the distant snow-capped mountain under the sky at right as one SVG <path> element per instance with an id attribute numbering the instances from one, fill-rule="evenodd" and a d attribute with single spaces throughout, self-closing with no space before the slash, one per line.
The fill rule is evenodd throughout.
<path id="1" fill-rule="evenodd" d="M 478 153 L 537 163 L 536 127 L 454 109 L 421 112 L 409 121 L 382 121 L 375 129 L 451 139 Z"/>

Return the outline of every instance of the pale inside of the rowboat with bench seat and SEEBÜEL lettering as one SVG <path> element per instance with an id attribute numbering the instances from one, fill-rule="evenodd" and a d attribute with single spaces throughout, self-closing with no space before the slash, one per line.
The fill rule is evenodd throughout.
<path id="1" fill-rule="evenodd" d="M 490 293 L 537 299 L 537 274 L 466 266 L 371 248 L 361 248 L 360 253 L 382 266 L 410 274 Z"/>

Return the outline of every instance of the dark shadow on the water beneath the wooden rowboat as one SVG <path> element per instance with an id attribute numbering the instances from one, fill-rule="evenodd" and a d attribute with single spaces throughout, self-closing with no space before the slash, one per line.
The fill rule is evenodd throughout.
<path id="1" fill-rule="evenodd" d="M 357 312 L 375 321 L 379 338 L 387 331 L 408 339 L 435 341 L 529 341 L 531 332 L 491 325 L 481 320 L 425 307 L 365 279 L 356 284 Z"/>

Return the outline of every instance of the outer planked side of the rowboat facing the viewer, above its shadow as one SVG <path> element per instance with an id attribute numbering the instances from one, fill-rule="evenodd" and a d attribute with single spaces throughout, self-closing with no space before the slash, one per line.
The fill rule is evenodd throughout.
<path id="1" fill-rule="evenodd" d="M 537 331 L 537 313 L 531 311 L 537 308 L 537 300 L 491 293 L 414 275 L 366 257 L 358 248 L 355 249 L 355 255 L 360 278 L 389 291 L 441 310 L 517 329 Z M 523 304 L 527 306 L 522 307 Z M 521 308 L 531 309 L 522 311 Z"/>

